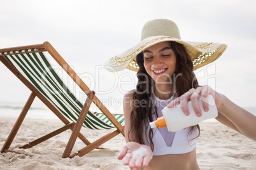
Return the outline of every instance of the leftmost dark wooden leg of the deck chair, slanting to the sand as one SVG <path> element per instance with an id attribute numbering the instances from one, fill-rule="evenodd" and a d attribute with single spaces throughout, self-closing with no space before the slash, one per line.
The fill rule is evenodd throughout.
<path id="1" fill-rule="evenodd" d="M 36 95 L 34 93 L 31 93 L 31 95 L 29 96 L 29 99 L 25 103 L 24 108 L 22 109 L 22 112 L 20 112 L 20 115 L 18 116 L 18 119 L 15 122 L 13 129 L 11 129 L 11 132 L 8 138 L 6 139 L 1 152 L 5 152 L 4 150 L 8 151 L 8 149 L 10 148 L 10 145 L 13 142 L 13 139 L 15 138 L 18 132 L 18 129 L 20 129 L 20 126 L 22 125 L 22 122 L 24 121 L 25 116 L 27 115 L 27 112 L 29 111 L 29 108 L 31 107 L 35 97 Z"/>

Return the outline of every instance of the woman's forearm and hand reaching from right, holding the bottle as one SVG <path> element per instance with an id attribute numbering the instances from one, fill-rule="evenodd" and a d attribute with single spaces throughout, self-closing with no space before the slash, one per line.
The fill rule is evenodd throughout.
<path id="1" fill-rule="evenodd" d="M 187 93 L 176 98 L 169 103 L 168 107 L 174 107 L 180 103 L 183 112 L 188 115 L 189 110 L 187 102 L 191 100 L 192 106 L 198 116 L 201 116 L 202 112 L 199 108 L 198 100 L 203 101 L 203 108 L 205 111 L 209 110 L 207 96 L 212 95 L 215 99 L 215 103 L 218 109 L 217 120 L 226 126 L 238 131 L 248 138 L 256 140 L 256 117 L 250 112 L 247 112 L 243 108 L 239 107 L 226 96 L 217 93 L 210 88 L 210 86 L 202 86 L 196 89 L 190 89 Z"/>

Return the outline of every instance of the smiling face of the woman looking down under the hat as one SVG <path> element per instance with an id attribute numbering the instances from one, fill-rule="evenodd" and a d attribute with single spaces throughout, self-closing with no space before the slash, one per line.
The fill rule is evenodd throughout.
<path id="1" fill-rule="evenodd" d="M 176 55 L 170 42 L 159 42 L 143 51 L 146 72 L 156 83 L 170 82 L 176 70 Z"/>

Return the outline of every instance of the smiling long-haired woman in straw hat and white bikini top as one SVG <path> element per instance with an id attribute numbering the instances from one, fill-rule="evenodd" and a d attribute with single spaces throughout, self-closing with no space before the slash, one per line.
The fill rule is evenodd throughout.
<path id="1" fill-rule="evenodd" d="M 136 89 L 124 96 L 127 144 L 118 155 L 124 165 L 131 169 L 199 169 L 198 125 L 172 133 L 167 128 L 150 129 L 149 122 L 162 116 L 162 108 L 177 104 L 189 115 L 189 100 L 200 117 L 198 101 L 204 101 L 207 112 L 208 95 L 215 98 L 218 121 L 256 140 L 256 117 L 209 86 L 199 86 L 193 73 L 216 60 L 225 48 L 225 44 L 182 41 L 174 22 L 157 19 L 145 24 L 137 46 L 110 59 L 112 70 L 138 71 Z"/>

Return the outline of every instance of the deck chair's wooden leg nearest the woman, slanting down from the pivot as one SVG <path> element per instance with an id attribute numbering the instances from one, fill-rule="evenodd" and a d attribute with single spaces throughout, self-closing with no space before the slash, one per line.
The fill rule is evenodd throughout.
<path id="1" fill-rule="evenodd" d="M 83 105 L 83 109 L 78 117 L 78 120 L 76 122 L 76 125 L 73 129 L 73 132 L 69 138 L 68 144 L 64 150 L 64 153 L 62 155 L 62 158 L 69 157 L 71 154 L 71 150 L 73 149 L 75 145 L 76 138 L 78 137 L 78 134 L 80 133 L 80 129 L 83 125 L 83 120 L 85 120 L 85 117 L 87 115 L 87 112 L 89 111 L 90 104 L 92 103 L 92 100 L 94 99 L 95 92 L 91 91 L 87 97 L 87 100 L 85 101 L 85 104 Z"/>

